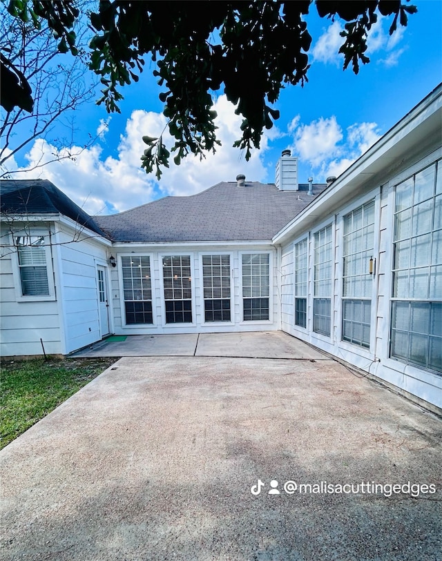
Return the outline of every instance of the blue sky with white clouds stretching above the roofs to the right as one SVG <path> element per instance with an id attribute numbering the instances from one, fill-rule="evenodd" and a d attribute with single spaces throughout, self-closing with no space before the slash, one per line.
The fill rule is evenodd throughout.
<path id="1" fill-rule="evenodd" d="M 23 170 L 17 179 L 50 179 L 91 214 L 126 210 L 165 195 L 193 195 L 219 181 L 234 181 L 238 173 L 244 173 L 247 181 L 272 183 L 285 148 L 299 158 L 300 182 L 309 176 L 325 181 L 328 175 L 342 173 L 442 81 L 442 1 L 412 3 L 419 11 L 410 16 L 407 28 L 399 27 L 389 37 L 390 18 L 374 26 L 367 52 L 371 62 L 357 76 L 342 70 L 338 46 L 343 24 L 320 19 L 312 6 L 307 18 L 313 37 L 309 82 L 282 92 L 276 104 L 281 117 L 265 132 L 262 148 L 249 162 L 231 147 L 239 137 L 240 118 L 220 91 L 213 96 L 222 140 L 217 153 L 203 161 L 188 157 L 180 166 L 172 162 L 160 181 L 146 175 L 140 168 L 145 148 L 141 137 L 159 135 L 165 123 L 157 99 L 160 89 L 146 70 L 139 83 L 123 88 L 120 115 L 108 115 L 104 106 L 93 103 L 75 113 L 76 146 L 107 122 L 95 144 L 75 161 L 32 170 L 42 151 L 43 159 L 53 151 L 48 141 L 37 139 L 17 155 L 10 169 Z"/>

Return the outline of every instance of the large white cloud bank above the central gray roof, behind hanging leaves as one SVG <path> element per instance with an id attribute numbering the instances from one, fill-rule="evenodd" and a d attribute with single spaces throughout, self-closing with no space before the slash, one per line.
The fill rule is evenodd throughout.
<path id="1" fill-rule="evenodd" d="M 154 175 L 146 175 L 140 167 L 140 156 L 146 148 L 142 136 L 160 136 L 166 120 L 161 113 L 144 110 L 133 111 L 126 121 L 115 157 L 105 157 L 102 147 L 95 144 L 84 150 L 73 147 L 71 152 L 77 154 L 73 159 L 50 162 L 56 149 L 37 139 L 26 155 L 28 166 L 19 168 L 21 173 L 14 177 L 49 179 L 90 214 L 126 210 L 149 202 L 158 195 L 193 195 L 218 181 L 235 181 L 238 173 L 244 173 L 253 181 L 264 180 L 267 170 L 262 164 L 262 153 L 267 149 L 269 138 L 280 134 L 278 130 L 273 128 L 269 131 L 271 135 L 266 131 L 261 150 L 253 150 L 251 159 L 246 162 L 242 152 L 232 148 L 233 141 L 240 135 L 241 117 L 235 115 L 233 106 L 224 95 L 215 101 L 214 109 L 218 112 L 217 136 L 222 146 L 202 161 L 189 155 L 180 166 L 172 162 L 169 169 L 164 169 L 159 182 Z M 101 135 L 105 134 L 104 125 L 104 121 L 100 121 L 97 132 Z M 171 145 L 167 132 L 163 133 L 163 140 L 166 145 Z M 66 156 L 67 152 L 61 150 L 59 154 Z M 17 168 L 14 161 L 8 164 L 10 170 Z"/>

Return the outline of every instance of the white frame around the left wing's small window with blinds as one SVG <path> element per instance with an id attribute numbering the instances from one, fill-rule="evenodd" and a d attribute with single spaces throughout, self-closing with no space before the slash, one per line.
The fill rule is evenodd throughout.
<path id="1" fill-rule="evenodd" d="M 44 249 L 46 257 L 46 275 L 48 275 L 48 292 L 45 295 L 23 295 L 21 288 L 21 273 L 19 264 L 19 250 L 15 239 L 17 237 L 44 237 Z M 15 297 L 17 302 L 54 302 L 57 297 L 55 294 L 54 270 L 52 266 L 52 251 L 50 244 L 50 234 L 48 230 L 19 230 L 10 235 L 10 244 L 12 246 L 11 262 L 12 273 L 14 277 Z"/>

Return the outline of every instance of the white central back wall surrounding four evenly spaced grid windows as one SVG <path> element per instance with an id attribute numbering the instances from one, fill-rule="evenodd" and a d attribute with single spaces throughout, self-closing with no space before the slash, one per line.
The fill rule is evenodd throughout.
<path id="1" fill-rule="evenodd" d="M 280 290 L 276 249 L 269 244 L 212 244 L 180 246 L 139 246 L 130 244 L 114 248 L 117 267 L 111 270 L 111 300 L 114 332 L 117 335 L 143 335 L 147 333 L 222 333 L 228 331 L 268 331 L 278 328 Z M 270 298 L 269 321 L 242 321 L 242 253 L 269 253 Z M 204 322 L 202 287 L 202 255 L 229 254 L 231 266 L 231 322 Z M 124 294 L 122 290 L 121 257 L 124 255 L 149 255 L 152 277 L 153 324 L 126 325 Z M 162 257 L 164 255 L 191 255 L 192 272 L 192 324 L 166 324 Z"/>

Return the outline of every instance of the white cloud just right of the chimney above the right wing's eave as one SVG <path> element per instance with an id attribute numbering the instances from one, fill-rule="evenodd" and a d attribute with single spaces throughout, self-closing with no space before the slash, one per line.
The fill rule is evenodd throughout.
<path id="1" fill-rule="evenodd" d="M 376 123 L 353 124 L 344 133 L 334 116 L 310 124 L 294 119 L 289 129 L 294 138 L 292 150 L 300 161 L 310 164 L 318 181 L 343 173 L 381 137 Z"/>

